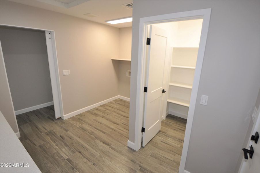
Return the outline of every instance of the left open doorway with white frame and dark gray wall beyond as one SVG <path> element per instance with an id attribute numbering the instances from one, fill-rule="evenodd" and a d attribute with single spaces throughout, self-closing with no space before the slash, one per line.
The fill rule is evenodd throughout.
<path id="1" fill-rule="evenodd" d="M 0 40 L 16 118 L 63 117 L 54 31 L 0 25 Z"/>

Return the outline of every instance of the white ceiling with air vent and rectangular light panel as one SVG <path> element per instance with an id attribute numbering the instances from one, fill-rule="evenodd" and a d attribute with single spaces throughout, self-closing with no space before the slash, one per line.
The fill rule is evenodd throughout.
<path id="1" fill-rule="evenodd" d="M 103 23 L 117 28 L 131 27 L 132 22 L 109 24 L 106 20 L 125 18 L 132 16 L 132 9 L 129 10 L 121 5 L 130 3 L 132 0 L 9 0 L 33 7 L 43 8 L 50 11 L 55 11 L 70 16 L 92 20 L 94 22 Z M 86 1 L 83 2 L 82 1 Z M 72 7 L 66 5 L 77 3 Z M 65 5 L 65 6 L 64 6 Z M 84 16 L 84 14 L 92 13 L 96 17 Z"/>

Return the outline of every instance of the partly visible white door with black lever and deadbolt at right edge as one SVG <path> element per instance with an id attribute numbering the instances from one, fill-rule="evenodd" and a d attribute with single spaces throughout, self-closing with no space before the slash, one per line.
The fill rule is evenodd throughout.
<path id="1" fill-rule="evenodd" d="M 258 133 L 260 133 L 260 111 L 259 111 L 259 115 L 257 118 L 255 129 L 253 130 L 252 135 L 255 135 L 256 131 Z M 248 155 L 248 159 L 242 160 L 242 163 L 241 163 L 242 166 L 241 166 L 240 173 L 260 172 L 260 139 L 258 140 L 257 144 L 255 143 L 255 141 L 250 140 L 248 146 L 251 146 L 251 145 L 253 146 L 253 149 L 254 149 L 253 157 L 252 157 L 252 159 L 250 159 L 250 157 Z M 249 149 L 249 148 L 246 148 L 246 149 Z"/>

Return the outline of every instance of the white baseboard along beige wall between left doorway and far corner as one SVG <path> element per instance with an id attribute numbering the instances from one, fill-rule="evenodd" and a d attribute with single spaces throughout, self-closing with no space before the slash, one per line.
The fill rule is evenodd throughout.
<path id="1" fill-rule="evenodd" d="M 127 99 L 129 99 L 129 98 L 123 97 L 123 96 L 121 96 L 121 95 L 117 95 L 117 96 L 112 97 L 112 98 L 110 98 L 110 99 L 106 99 L 106 100 L 100 101 L 100 102 L 98 102 L 98 103 L 96 103 L 96 104 L 87 106 L 86 108 L 82 108 L 82 109 L 76 110 L 76 111 L 74 111 L 74 112 L 71 112 L 71 113 L 69 113 L 69 114 L 66 114 L 66 115 L 64 115 L 64 120 L 65 120 L 65 119 L 68 119 L 68 118 L 70 118 L 70 117 L 72 117 L 72 116 L 75 116 L 75 115 L 77 115 L 77 114 L 81 114 L 82 112 L 85 112 L 85 111 L 88 111 L 88 110 L 90 110 L 90 109 L 96 108 L 96 107 L 98 107 L 98 106 L 100 106 L 100 105 L 106 104 L 106 103 L 108 103 L 108 102 L 110 102 L 110 101 L 113 101 L 113 100 L 115 100 L 115 99 L 127 100 Z M 129 99 L 129 100 L 130 100 L 130 99 Z"/>

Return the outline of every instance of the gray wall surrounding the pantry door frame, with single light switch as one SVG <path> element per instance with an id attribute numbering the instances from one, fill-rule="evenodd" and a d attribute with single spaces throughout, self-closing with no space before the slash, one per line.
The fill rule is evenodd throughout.
<path id="1" fill-rule="evenodd" d="M 234 172 L 260 86 L 259 0 L 134 0 L 129 140 L 134 142 L 139 18 L 212 8 L 185 170 Z M 200 105 L 201 95 L 208 105 Z"/>

